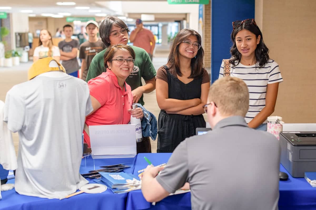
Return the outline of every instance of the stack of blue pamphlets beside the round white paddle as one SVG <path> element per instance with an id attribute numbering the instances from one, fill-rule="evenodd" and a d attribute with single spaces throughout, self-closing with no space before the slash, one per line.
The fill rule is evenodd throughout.
<path id="1" fill-rule="evenodd" d="M 132 190 L 141 189 L 141 181 L 131 173 L 99 173 L 101 174 L 101 181 L 106 184 L 106 186 L 110 188 L 113 193 L 121 194 L 130 192 Z"/>

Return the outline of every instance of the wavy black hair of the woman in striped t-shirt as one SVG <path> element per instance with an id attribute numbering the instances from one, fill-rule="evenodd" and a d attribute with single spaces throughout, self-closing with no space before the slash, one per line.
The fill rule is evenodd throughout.
<path id="1" fill-rule="evenodd" d="M 240 26 L 237 26 L 231 34 L 233 46 L 230 48 L 230 54 L 232 55 L 232 57 L 230 58 L 229 62 L 233 66 L 240 63 L 241 54 L 237 49 L 235 37 L 236 37 L 237 33 L 243 29 L 246 29 L 246 30 L 252 32 L 254 35 L 256 35 L 256 38 L 258 38 L 259 35 L 261 37 L 259 44 L 257 44 L 257 48 L 255 50 L 255 57 L 256 57 L 257 63 L 259 63 L 259 67 L 261 68 L 269 60 L 269 49 L 263 42 L 262 33 L 261 33 L 259 27 L 255 24 L 246 25 L 245 22 L 243 24 L 241 24 Z"/>

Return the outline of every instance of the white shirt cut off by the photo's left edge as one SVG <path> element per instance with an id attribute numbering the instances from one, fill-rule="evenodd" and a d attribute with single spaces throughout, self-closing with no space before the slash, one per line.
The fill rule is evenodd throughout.
<path id="1" fill-rule="evenodd" d="M 3 122 L 4 103 L 0 100 L 0 164 L 6 170 L 15 170 L 17 167 L 16 156 L 11 131 L 7 123 Z M 1 185 L 0 185 L 1 199 Z"/>

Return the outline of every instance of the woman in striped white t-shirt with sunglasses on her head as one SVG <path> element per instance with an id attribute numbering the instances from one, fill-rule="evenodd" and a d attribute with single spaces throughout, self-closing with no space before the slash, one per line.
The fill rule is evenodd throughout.
<path id="1" fill-rule="evenodd" d="M 254 19 L 233 22 L 231 58 L 223 60 L 220 77 L 239 77 L 249 89 L 246 122 L 250 128 L 267 130 L 267 117 L 274 112 L 279 82 L 279 65 L 269 58 L 269 49 Z M 225 72 L 224 72 L 225 70 Z"/>

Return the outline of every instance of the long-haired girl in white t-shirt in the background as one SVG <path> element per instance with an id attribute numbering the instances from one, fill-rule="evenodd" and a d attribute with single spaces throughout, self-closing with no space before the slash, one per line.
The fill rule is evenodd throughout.
<path id="1" fill-rule="evenodd" d="M 34 49 L 33 62 L 46 57 L 54 57 L 59 61 L 60 52 L 59 48 L 53 45 L 51 33 L 46 29 L 42 29 L 40 31 L 39 46 Z"/>

